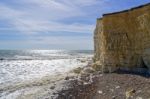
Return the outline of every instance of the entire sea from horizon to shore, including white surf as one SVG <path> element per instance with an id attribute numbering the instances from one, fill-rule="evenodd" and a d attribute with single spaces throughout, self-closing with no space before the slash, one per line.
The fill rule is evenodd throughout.
<path id="1" fill-rule="evenodd" d="M 34 94 L 33 86 L 39 91 L 92 57 L 92 50 L 0 50 L 0 99 L 25 99 L 27 92 Z"/>

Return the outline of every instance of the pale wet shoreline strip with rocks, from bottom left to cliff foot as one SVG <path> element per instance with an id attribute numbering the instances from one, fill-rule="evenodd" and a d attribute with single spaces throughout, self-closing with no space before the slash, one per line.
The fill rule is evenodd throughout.
<path id="1" fill-rule="evenodd" d="M 75 59 L 77 60 L 75 68 L 83 68 L 90 59 L 89 57 Z M 43 99 L 47 96 L 49 98 L 53 97 L 53 93 L 66 87 L 65 84 L 69 82 L 65 80 L 67 76 L 75 77 L 77 75 L 72 73 L 73 69 L 68 72 L 63 71 L 63 74 L 46 75 L 22 82 L 3 83 L 0 85 L 0 99 Z"/>

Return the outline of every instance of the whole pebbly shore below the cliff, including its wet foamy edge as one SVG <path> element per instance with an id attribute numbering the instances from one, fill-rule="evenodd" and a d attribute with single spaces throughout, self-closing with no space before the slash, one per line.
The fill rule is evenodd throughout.
<path id="1" fill-rule="evenodd" d="M 128 69 L 102 73 L 92 64 L 88 60 L 87 66 L 64 74 L 60 80 L 45 80 L 45 84 L 39 82 L 17 90 L 23 94 L 13 99 L 150 99 L 150 75 Z M 17 91 L 13 94 L 17 95 Z"/>

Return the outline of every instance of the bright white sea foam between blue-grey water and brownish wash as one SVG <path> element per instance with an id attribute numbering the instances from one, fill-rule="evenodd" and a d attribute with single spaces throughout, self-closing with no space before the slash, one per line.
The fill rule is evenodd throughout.
<path id="1" fill-rule="evenodd" d="M 86 63 L 77 59 L 3 61 L 0 62 L 0 84 L 63 74 L 84 65 Z"/>

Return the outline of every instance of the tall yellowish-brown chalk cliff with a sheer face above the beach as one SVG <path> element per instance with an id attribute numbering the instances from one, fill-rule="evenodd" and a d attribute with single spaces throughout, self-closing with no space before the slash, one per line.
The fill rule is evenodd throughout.
<path id="1" fill-rule="evenodd" d="M 94 48 L 94 61 L 103 70 L 150 68 L 150 4 L 97 19 Z"/>

